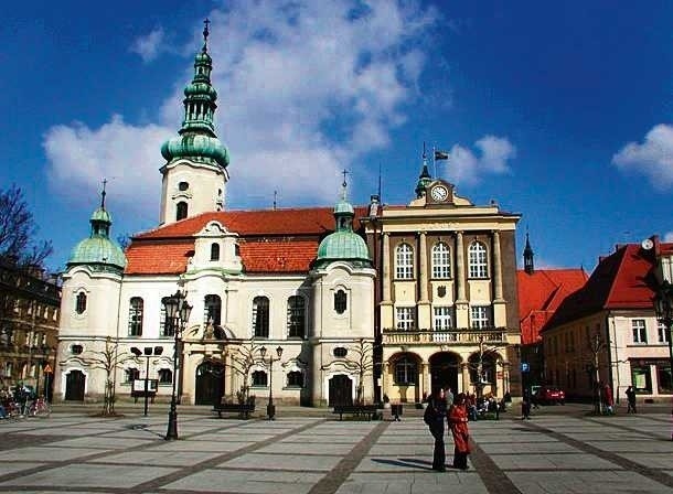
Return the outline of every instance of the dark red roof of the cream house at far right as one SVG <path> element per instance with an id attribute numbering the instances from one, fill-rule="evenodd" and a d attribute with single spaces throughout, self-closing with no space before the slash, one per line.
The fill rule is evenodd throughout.
<path id="1" fill-rule="evenodd" d="M 671 251 L 672 247 L 661 244 L 661 251 Z M 651 309 L 654 267 L 652 249 L 644 250 L 638 244 L 619 246 L 600 259 L 584 288 L 564 300 L 543 331 L 602 310 Z"/>

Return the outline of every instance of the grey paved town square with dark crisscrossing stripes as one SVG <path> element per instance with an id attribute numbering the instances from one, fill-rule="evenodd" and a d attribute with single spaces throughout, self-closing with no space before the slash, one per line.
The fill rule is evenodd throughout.
<path id="1" fill-rule="evenodd" d="M 220 420 L 53 414 L 0 421 L 0 493 L 671 493 L 665 414 L 471 422 L 470 470 L 431 470 L 420 417 Z M 447 458 L 452 444 L 447 440 Z"/>

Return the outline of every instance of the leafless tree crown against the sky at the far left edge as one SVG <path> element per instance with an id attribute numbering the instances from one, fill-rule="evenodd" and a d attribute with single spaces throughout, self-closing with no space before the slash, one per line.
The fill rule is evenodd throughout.
<path id="1" fill-rule="evenodd" d="M 0 257 L 19 266 L 43 266 L 54 250 L 52 243 L 38 241 L 38 226 L 17 185 L 0 190 Z"/>

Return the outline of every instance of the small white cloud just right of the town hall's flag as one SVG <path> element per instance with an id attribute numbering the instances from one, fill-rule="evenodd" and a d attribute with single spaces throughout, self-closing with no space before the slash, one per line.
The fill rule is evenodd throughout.
<path id="1" fill-rule="evenodd" d="M 516 158 L 516 148 L 506 138 L 484 136 L 474 142 L 474 147 L 479 157 L 460 144 L 453 144 L 445 169 L 449 180 L 461 185 L 474 185 L 487 174 L 508 173 L 508 161 Z"/>

